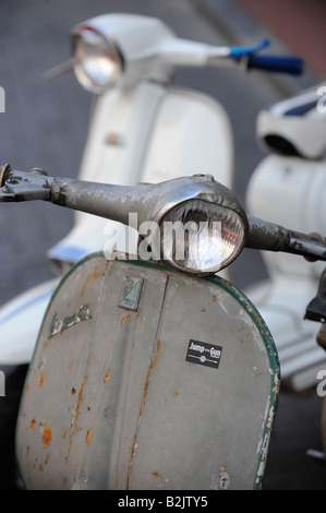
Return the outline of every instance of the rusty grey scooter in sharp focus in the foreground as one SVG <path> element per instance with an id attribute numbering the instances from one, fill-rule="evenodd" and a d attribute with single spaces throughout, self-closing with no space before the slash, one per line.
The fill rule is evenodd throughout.
<path id="1" fill-rule="evenodd" d="M 38 199 L 124 225 L 133 214 L 142 234 L 129 254 L 79 262 L 51 299 L 17 420 L 26 488 L 259 488 L 277 349 L 216 273 L 243 247 L 326 261 L 325 238 L 247 216 L 207 175 L 123 187 L 7 166 L 0 186 L 1 202 Z"/>

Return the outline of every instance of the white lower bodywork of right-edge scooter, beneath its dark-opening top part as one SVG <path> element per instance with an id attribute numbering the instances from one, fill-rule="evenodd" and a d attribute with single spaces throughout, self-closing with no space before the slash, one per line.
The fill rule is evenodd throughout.
<path id="1" fill-rule="evenodd" d="M 255 169 L 246 192 L 249 212 L 290 229 L 326 232 L 326 160 L 267 156 Z M 245 293 L 265 319 L 278 348 L 282 379 L 294 390 L 316 384 L 325 366 L 317 346 L 318 326 L 304 320 L 315 297 L 323 262 L 287 253 L 262 252 L 269 275 Z"/>

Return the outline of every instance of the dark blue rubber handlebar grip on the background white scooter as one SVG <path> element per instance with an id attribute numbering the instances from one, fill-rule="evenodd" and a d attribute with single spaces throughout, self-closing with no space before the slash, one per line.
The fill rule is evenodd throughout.
<path id="1" fill-rule="evenodd" d="M 247 69 L 250 70 L 252 68 L 300 75 L 304 70 L 304 60 L 299 57 L 251 55 L 247 57 Z"/>

